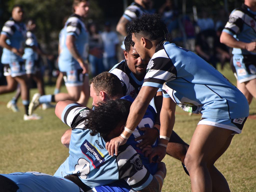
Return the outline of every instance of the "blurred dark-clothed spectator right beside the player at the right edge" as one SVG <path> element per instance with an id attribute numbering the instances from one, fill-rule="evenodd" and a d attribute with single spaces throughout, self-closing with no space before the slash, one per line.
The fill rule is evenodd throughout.
<path id="1" fill-rule="evenodd" d="M 228 47 L 220 42 L 220 35 L 223 30 L 223 27 L 219 27 L 216 31 L 216 38 L 214 41 L 214 48 L 216 51 L 216 57 L 220 62 L 221 69 L 223 69 L 226 62 L 230 61 L 230 54 Z"/>

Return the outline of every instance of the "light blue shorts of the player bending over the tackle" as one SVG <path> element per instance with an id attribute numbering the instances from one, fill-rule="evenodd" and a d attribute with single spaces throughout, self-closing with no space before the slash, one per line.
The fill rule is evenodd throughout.
<path id="1" fill-rule="evenodd" d="M 198 125 L 211 125 L 234 131 L 233 134 L 240 134 L 247 117 L 239 119 L 210 119 L 201 118 Z"/>

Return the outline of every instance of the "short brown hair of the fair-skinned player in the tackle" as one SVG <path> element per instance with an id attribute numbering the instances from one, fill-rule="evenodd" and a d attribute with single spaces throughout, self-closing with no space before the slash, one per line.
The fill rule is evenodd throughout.
<path id="1" fill-rule="evenodd" d="M 93 77 L 90 81 L 96 94 L 104 91 L 109 99 L 117 99 L 123 97 L 122 84 L 120 79 L 113 73 L 102 72 Z"/>

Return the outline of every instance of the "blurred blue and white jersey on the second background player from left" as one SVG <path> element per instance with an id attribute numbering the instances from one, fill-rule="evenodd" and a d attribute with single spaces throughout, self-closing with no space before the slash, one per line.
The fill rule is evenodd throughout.
<path id="1" fill-rule="evenodd" d="M 38 46 L 37 39 L 34 33 L 27 31 L 27 40 L 25 42 L 24 55 L 22 56 L 23 59 L 34 61 L 38 59 L 38 54 L 32 49 L 32 46 Z"/>

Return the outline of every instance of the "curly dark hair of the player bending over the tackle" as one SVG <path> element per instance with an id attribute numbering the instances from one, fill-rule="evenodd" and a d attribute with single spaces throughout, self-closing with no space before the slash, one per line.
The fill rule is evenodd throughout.
<path id="1" fill-rule="evenodd" d="M 168 30 L 159 14 L 144 14 L 140 18 L 133 19 L 131 24 L 128 25 L 127 34 L 132 33 L 135 36 L 144 36 L 152 41 L 165 38 Z"/>

